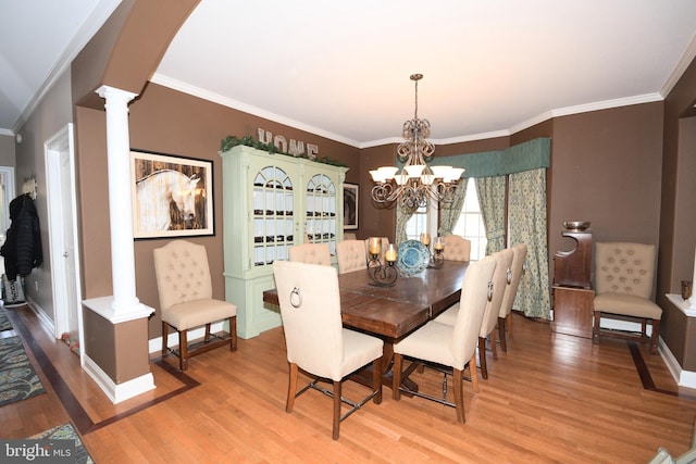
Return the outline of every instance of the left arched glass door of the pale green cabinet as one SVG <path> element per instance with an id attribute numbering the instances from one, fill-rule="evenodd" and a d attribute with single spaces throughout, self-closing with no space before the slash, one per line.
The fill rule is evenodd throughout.
<path id="1" fill-rule="evenodd" d="M 253 178 L 253 265 L 287 260 L 294 237 L 294 190 L 288 174 L 277 166 L 261 168 Z"/>

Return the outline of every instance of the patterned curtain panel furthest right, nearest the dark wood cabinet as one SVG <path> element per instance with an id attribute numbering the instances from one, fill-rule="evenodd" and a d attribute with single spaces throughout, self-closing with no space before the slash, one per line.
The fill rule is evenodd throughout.
<path id="1" fill-rule="evenodd" d="M 550 319 L 546 228 L 546 170 L 510 175 L 510 246 L 526 243 L 526 272 L 513 308 L 527 317 Z"/>

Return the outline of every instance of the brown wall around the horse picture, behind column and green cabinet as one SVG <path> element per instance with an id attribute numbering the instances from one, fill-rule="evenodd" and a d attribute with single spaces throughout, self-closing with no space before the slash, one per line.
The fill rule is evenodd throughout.
<path id="1" fill-rule="evenodd" d="M 111 255 L 109 239 L 109 197 L 107 191 L 105 117 L 101 111 L 78 108 L 79 186 L 83 223 L 84 291 L 86 298 L 111 294 Z M 288 140 L 302 140 L 319 147 L 320 158 L 328 156 L 347 164 L 346 178 L 360 170 L 359 150 L 334 140 L 265 121 L 239 111 L 211 103 L 166 87 L 150 84 L 129 106 L 130 146 L 134 149 L 170 153 L 213 162 L 214 228 L 212 237 L 191 241 L 208 250 L 213 296 L 224 298 L 222 160 L 220 141 L 228 135 L 257 138 L 258 129 L 283 135 Z M 225 179 L 224 181 L 234 181 Z M 353 180 L 355 181 L 355 180 Z M 136 290 L 144 304 L 159 308 L 152 250 L 167 239 L 135 241 Z M 160 317 L 149 322 L 149 338 L 160 336 Z"/>

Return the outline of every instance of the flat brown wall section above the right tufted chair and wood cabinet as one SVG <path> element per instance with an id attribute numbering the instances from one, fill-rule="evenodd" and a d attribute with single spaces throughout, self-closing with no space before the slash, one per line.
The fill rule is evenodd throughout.
<path id="1" fill-rule="evenodd" d="M 661 103 L 554 120 L 549 254 L 574 244 L 561 237 L 563 221 L 592 222 L 594 242 L 657 246 L 661 146 Z"/>

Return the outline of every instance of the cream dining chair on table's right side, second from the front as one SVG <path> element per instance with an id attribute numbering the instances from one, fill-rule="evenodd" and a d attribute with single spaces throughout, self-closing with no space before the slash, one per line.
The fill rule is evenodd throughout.
<path id="1" fill-rule="evenodd" d="M 488 378 L 488 364 L 486 362 L 486 340 L 490 338 L 490 351 L 493 352 L 493 359 L 498 359 L 498 349 L 496 341 L 496 324 L 498 323 L 498 314 L 500 314 L 500 305 L 507 287 L 512 283 L 512 258 L 513 251 L 511 248 L 493 253 L 496 260 L 496 272 L 493 275 L 493 287 L 495 289 L 493 298 L 486 305 L 486 313 L 483 316 L 483 323 L 481 325 L 481 334 L 478 335 L 478 365 L 481 366 L 481 376 L 484 379 Z M 467 271 L 469 272 L 469 271 Z M 440 324 L 453 325 L 457 321 L 459 313 L 459 303 L 456 303 L 439 316 L 435 321 Z"/>

